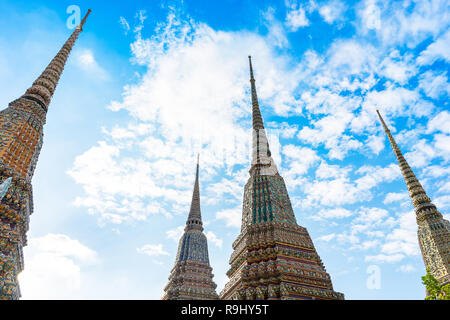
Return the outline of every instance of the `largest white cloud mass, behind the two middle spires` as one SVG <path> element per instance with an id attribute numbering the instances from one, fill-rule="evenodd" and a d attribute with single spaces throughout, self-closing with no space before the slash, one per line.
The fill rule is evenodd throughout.
<path id="1" fill-rule="evenodd" d="M 145 13 L 137 18 L 144 21 Z M 276 23 L 270 10 L 265 18 Z M 292 92 L 299 74 L 275 53 L 273 35 L 215 31 L 174 13 L 153 37 L 143 38 L 141 30 L 131 49 L 133 61 L 147 71 L 124 87 L 121 101 L 109 105 L 112 111 L 127 111 L 133 125 L 103 129 L 104 141 L 78 156 L 68 171 L 84 190 L 74 204 L 98 214 L 101 223 L 185 211 L 194 172 L 186 163 L 193 168 L 200 150 L 201 174 L 206 173 L 208 186 L 218 187 L 207 188 L 212 197 L 205 201 L 227 193 L 241 196 L 234 166 L 247 165 L 250 155 L 247 54 L 253 54 L 260 101 L 276 113 L 296 104 Z M 275 147 L 271 145 L 273 151 Z M 222 169 L 230 178 L 219 182 L 215 179 Z"/>

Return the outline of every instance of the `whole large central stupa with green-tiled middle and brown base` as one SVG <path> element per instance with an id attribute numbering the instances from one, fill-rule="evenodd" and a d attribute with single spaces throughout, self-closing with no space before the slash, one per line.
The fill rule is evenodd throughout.
<path id="1" fill-rule="evenodd" d="M 221 299 L 344 299 L 306 228 L 297 224 L 284 179 L 271 157 L 256 95 L 252 91 L 252 163 L 244 188 L 241 232 L 233 243 L 230 278 Z"/>

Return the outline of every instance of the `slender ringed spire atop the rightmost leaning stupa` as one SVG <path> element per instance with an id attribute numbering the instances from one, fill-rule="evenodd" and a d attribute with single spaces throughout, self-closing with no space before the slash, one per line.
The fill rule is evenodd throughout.
<path id="1" fill-rule="evenodd" d="M 389 142 L 391 143 L 392 149 L 394 150 L 395 156 L 397 157 L 398 163 L 400 165 L 400 170 L 402 171 L 403 177 L 408 187 L 409 195 L 411 196 L 414 207 L 416 208 L 416 214 L 420 216 L 421 212 L 425 212 L 429 209 L 436 210 L 436 206 L 431 203 L 431 199 L 427 196 L 425 190 L 417 179 L 416 175 L 412 171 L 408 162 L 406 162 L 403 157 L 400 148 L 394 140 L 391 131 L 387 127 L 383 120 L 380 112 L 377 110 L 378 117 L 380 118 L 381 124 L 383 125 L 384 131 L 386 132 Z M 440 213 L 439 213 L 440 215 Z"/>

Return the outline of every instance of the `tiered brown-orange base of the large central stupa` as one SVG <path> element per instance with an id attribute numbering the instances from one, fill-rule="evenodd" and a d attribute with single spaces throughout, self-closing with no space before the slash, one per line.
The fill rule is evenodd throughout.
<path id="1" fill-rule="evenodd" d="M 221 299 L 344 299 L 307 230 L 286 223 L 249 226 L 233 243 L 229 283 Z"/>

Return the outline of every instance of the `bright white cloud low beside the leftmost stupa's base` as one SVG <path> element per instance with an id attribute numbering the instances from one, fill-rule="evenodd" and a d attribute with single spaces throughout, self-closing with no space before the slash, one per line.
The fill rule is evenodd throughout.
<path id="1" fill-rule="evenodd" d="M 64 234 L 30 238 L 24 248 L 26 268 L 19 274 L 22 299 L 83 298 L 84 268 L 97 253 Z"/>

